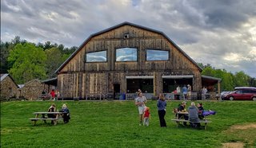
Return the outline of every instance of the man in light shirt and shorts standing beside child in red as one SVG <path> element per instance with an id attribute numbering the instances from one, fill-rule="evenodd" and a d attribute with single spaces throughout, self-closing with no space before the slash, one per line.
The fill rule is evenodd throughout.
<path id="1" fill-rule="evenodd" d="M 142 125 L 145 103 L 146 97 L 142 95 L 142 92 L 138 92 L 138 97 L 135 99 L 135 105 L 138 106 L 138 114 L 140 119 L 139 126 Z"/>

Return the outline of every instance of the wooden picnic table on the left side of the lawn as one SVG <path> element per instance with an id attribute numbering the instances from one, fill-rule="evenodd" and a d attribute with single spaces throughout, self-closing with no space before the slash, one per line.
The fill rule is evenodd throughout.
<path id="1" fill-rule="evenodd" d="M 44 121 L 46 123 L 46 120 L 50 120 L 54 122 L 54 125 L 58 123 L 59 119 L 62 119 L 62 112 L 34 112 L 35 115 L 34 118 L 30 118 L 30 120 L 34 123 L 34 125 L 37 123 L 38 120 Z M 56 115 L 55 118 L 49 118 L 47 115 Z"/>

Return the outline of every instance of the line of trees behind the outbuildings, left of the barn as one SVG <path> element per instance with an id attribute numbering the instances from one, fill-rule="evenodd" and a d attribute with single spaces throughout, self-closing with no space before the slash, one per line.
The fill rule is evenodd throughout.
<path id="1" fill-rule="evenodd" d="M 34 44 L 20 37 L 14 37 L 10 42 L 1 41 L 1 73 L 10 73 L 17 84 L 50 79 L 76 49 L 78 47 L 66 48 L 50 41 Z"/>

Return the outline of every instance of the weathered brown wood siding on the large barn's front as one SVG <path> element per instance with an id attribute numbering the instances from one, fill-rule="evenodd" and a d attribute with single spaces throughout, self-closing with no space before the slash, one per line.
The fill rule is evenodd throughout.
<path id="1" fill-rule="evenodd" d="M 129 34 L 125 39 L 124 34 Z M 115 49 L 138 49 L 138 61 L 116 62 Z M 146 49 L 170 51 L 169 60 L 146 61 Z M 86 53 L 106 50 L 107 61 L 86 63 Z M 201 88 L 201 72 L 160 33 L 123 25 L 109 32 L 90 38 L 86 45 L 62 68 L 58 74 L 58 88 L 63 97 L 82 97 L 86 93 L 113 92 L 113 84 L 120 84 L 121 92 L 126 92 L 126 76 L 150 75 L 156 72 L 158 88 L 162 91 L 161 76 L 193 75 L 193 88 Z"/>

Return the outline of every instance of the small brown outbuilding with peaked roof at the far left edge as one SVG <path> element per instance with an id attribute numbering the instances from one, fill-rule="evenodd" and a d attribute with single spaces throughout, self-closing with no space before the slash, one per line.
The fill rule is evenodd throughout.
<path id="1" fill-rule="evenodd" d="M 1 74 L 1 100 L 17 98 L 18 85 L 14 79 L 8 74 Z"/>

